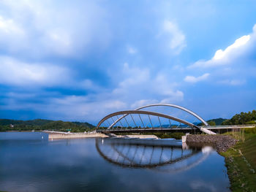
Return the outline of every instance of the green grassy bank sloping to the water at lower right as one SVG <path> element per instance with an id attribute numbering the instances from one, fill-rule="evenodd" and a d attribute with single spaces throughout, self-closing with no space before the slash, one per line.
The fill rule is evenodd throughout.
<path id="1" fill-rule="evenodd" d="M 221 153 L 225 156 L 232 191 L 256 191 L 256 134 L 248 130 L 244 138 Z"/>

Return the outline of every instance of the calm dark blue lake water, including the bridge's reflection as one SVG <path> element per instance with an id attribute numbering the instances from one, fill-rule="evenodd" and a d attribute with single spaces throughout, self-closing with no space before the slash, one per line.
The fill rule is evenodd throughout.
<path id="1" fill-rule="evenodd" d="M 0 191 L 229 191 L 211 147 L 149 139 L 61 139 L 0 133 Z"/>

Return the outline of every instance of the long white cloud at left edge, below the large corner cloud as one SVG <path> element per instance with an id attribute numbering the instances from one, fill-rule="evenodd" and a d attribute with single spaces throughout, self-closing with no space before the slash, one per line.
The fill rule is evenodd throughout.
<path id="1" fill-rule="evenodd" d="M 65 66 L 33 63 L 0 55 L 0 85 L 20 88 L 61 87 L 87 92 L 105 91 L 90 79 L 78 80 L 75 72 Z"/>

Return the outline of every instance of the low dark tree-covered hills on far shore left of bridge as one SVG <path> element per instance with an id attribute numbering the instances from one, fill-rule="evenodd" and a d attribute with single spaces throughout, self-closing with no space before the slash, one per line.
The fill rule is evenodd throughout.
<path id="1" fill-rule="evenodd" d="M 0 131 L 31 131 L 31 130 L 56 130 L 56 131 L 89 131 L 95 126 L 90 123 L 69 122 L 62 120 L 10 120 L 0 119 Z"/>

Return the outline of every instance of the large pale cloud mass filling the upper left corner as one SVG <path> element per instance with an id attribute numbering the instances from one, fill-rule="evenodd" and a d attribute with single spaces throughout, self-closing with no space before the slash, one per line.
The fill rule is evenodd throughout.
<path id="1" fill-rule="evenodd" d="M 91 1 L 0 1 L 0 7 L 0 50 L 11 54 L 80 57 L 111 39 L 107 11 Z"/>

